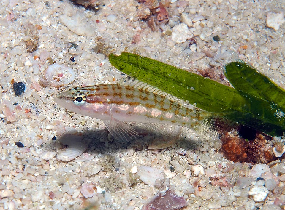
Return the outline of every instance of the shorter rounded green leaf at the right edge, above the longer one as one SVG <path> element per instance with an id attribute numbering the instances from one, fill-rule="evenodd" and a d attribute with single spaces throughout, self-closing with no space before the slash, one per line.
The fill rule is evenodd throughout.
<path id="1" fill-rule="evenodd" d="M 246 63 L 240 61 L 227 64 L 225 75 L 236 90 L 255 95 L 285 108 L 284 89 Z"/>

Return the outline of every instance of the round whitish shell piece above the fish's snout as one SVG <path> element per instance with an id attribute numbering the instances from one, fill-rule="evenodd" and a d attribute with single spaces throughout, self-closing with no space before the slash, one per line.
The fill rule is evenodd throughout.
<path id="1" fill-rule="evenodd" d="M 41 82 L 45 86 L 61 87 L 75 80 L 75 72 L 72 68 L 54 63 L 44 71 L 45 78 Z"/>

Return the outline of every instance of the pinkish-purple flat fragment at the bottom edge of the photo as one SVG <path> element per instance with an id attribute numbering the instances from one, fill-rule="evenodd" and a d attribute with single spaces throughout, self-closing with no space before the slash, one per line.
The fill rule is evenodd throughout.
<path id="1" fill-rule="evenodd" d="M 186 206 L 183 196 L 178 197 L 172 190 L 159 193 L 149 203 L 143 206 L 143 210 L 173 210 Z"/>

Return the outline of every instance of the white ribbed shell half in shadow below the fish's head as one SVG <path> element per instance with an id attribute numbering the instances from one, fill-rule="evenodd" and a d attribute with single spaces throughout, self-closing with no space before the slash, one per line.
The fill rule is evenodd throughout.
<path id="1" fill-rule="evenodd" d="M 66 134 L 56 143 L 56 158 L 61 161 L 71 161 L 87 149 L 82 136 Z"/>

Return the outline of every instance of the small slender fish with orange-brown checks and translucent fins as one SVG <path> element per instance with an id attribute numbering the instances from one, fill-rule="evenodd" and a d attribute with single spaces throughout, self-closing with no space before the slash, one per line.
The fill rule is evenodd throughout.
<path id="1" fill-rule="evenodd" d="M 71 112 L 102 120 L 110 134 L 122 140 L 139 136 L 126 122 L 142 123 L 166 136 L 183 126 L 205 135 L 215 119 L 215 114 L 131 76 L 118 84 L 74 87 L 56 94 L 54 101 Z"/>

